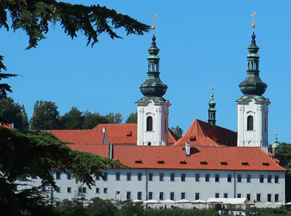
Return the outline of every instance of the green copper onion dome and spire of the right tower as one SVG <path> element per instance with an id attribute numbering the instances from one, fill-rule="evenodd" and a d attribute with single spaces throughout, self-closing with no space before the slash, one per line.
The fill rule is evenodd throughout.
<path id="1" fill-rule="evenodd" d="M 238 86 L 245 95 L 262 96 L 266 91 L 266 83 L 259 78 L 259 47 L 256 45 L 255 32 L 252 33 L 252 43 L 248 47 L 248 75 Z"/>

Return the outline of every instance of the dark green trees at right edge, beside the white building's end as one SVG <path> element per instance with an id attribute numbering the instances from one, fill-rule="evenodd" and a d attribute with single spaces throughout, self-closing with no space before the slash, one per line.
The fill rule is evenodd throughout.
<path id="1" fill-rule="evenodd" d="M 291 201 L 291 144 L 282 143 L 275 157 L 280 160 L 280 166 L 287 169 L 285 173 L 285 197 L 287 203 Z"/>

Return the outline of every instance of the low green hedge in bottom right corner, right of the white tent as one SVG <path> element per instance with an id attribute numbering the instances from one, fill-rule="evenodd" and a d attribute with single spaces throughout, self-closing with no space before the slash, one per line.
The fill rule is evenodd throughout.
<path id="1" fill-rule="evenodd" d="M 284 207 L 280 208 L 257 208 L 251 207 L 245 210 L 246 216 L 252 216 L 252 213 L 257 213 L 256 215 L 262 216 L 279 216 L 279 215 L 289 215 Z"/>

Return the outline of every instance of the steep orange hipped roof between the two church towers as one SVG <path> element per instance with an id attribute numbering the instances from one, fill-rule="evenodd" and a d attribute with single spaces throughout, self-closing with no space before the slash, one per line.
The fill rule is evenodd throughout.
<path id="1" fill-rule="evenodd" d="M 201 120 L 194 120 L 187 132 L 174 145 L 236 146 L 237 133 L 223 127 L 212 127 Z"/>

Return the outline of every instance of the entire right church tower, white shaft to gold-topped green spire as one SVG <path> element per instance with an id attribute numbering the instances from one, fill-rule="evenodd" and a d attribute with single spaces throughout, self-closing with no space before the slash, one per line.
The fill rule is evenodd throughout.
<path id="1" fill-rule="evenodd" d="M 238 103 L 238 146 L 261 147 L 268 153 L 268 106 L 269 99 L 262 94 L 266 83 L 259 78 L 259 47 L 255 41 L 255 13 L 252 13 L 252 42 L 248 47 L 248 74 L 239 84 L 243 96 Z"/>

